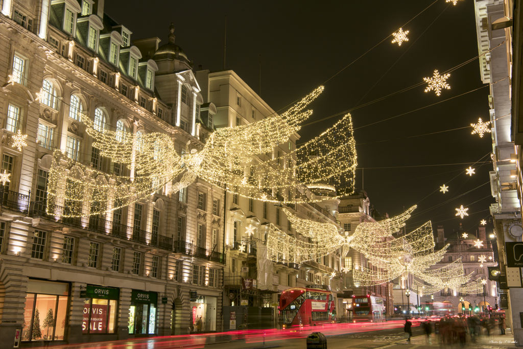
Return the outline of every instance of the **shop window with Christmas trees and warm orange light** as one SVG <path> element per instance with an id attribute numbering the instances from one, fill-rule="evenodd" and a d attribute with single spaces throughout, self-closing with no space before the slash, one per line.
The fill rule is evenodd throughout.
<path id="1" fill-rule="evenodd" d="M 63 341 L 70 284 L 29 279 L 21 339 Z"/>

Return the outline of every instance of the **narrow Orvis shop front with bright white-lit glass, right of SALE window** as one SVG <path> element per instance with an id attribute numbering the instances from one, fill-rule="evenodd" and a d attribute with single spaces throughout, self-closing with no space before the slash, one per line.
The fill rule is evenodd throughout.
<path id="1" fill-rule="evenodd" d="M 158 294 L 140 290 L 131 291 L 129 334 L 156 333 L 156 304 Z"/>

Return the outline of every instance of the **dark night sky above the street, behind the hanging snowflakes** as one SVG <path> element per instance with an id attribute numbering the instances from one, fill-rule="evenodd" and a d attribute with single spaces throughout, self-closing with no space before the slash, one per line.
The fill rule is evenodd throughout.
<path id="1" fill-rule="evenodd" d="M 479 60 L 451 72 L 451 89 L 440 97 L 424 93 L 426 84 L 397 93 L 423 82 L 435 69 L 444 72 L 477 57 L 472 0 L 456 6 L 445 0 L 106 0 L 105 12 L 129 28 L 132 39 L 159 37 L 160 45 L 174 22 L 176 43 L 194 61 L 194 69 L 202 65 L 211 71 L 224 67 L 226 16 L 225 68 L 258 92 L 261 55 L 261 97 L 274 110 L 284 111 L 328 80 L 310 105 L 314 114 L 304 123 L 299 142 L 351 110 L 356 184 L 375 209 L 393 216 L 417 204 L 407 230 L 431 220 L 434 230 L 444 225 L 447 237 L 460 222 L 471 233 L 480 220 L 488 221 L 488 207 L 495 202 L 488 183 L 492 137 L 473 136 L 470 127 L 480 117 L 489 119 L 489 88 L 481 82 Z M 410 31 L 410 41 L 401 47 L 387 38 L 400 27 Z M 470 165 L 473 176 L 464 173 Z M 439 192 L 443 184 L 449 186 L 446 194 Z M 463 220 L 455 216 L 460 205 L 469 208 Z M 487 232 L 492 227 L 488 223 Z"/>

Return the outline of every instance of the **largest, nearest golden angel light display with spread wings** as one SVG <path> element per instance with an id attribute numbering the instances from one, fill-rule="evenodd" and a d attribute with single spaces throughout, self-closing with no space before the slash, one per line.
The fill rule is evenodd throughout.
<path id="1" fill-rule="evenodd" d="M 48 213 L 62 217 L 103 215 L 164 186 L 167 194 L 176 193 L 197 177 L 230 193 L 270 202 L 283 201 L 283 193 L 286 202 L 314 201 L 303 194 L 306 185 L 325 179 L 340 188 L 340 196 L 350 194 L 357 165 L 350 115 L 295 150 L 282 156 L 275 151 L 282 144 L 291 144 L 290 137 L 312 114 L 303 109 L 322 91 L 323 86 L 316 88 L 281 115 L 221 128 L 203 147 L 188 142 L 182 154 L 167 134 L 106 130 L 82 115 L 93 147 L 123 170 L 120 175 L 108 176 L 55 151 L 49 172 Z"/>

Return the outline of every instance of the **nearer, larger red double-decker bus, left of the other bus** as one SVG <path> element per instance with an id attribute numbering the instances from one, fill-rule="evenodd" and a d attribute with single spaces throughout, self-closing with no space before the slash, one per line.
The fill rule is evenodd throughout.
<path id="1" fill-rule="evenodd" d="M 336 321 L 331 289 L 325 285 L 289 288 L 281 293 L 280 323 L 289 328 Z"/>

